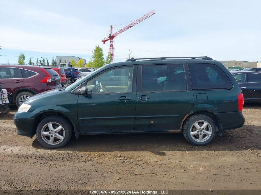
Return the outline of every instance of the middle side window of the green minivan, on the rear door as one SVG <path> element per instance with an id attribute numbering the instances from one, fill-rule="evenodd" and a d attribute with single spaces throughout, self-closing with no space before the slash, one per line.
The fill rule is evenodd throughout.
<path id="1" fill-rule="evenodd" d="M 186 90 L 183 64 L 142 66 L 141 91 Z"/>

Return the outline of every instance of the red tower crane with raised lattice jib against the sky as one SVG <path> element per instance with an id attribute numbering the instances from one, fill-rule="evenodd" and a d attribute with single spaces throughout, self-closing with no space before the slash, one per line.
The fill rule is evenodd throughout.
<path id="1" fill-rule="evenodd" d="M 143 20 L 149 18 L 150 16 L 152 16 L 153 14 L 155 14 L 155 11 L 154 10 L 151 10 L 148 14 L 145 14 L 144 16 L 142 16 L 141 18 L 135 20 L 134 22 L 130 23 L 128 26 L 125 26 L 124 28 L 120 29 L 119 31 L 117 31 L 116 33 L 112 34 L 112 28 L 113 26 L 111 25 L 111 34 L 109 34 L 109 37 L 107 38 L 104 38 L 102 40 L 103 44 L 105 44 L 106 41 L 110 40 L 110 47 L 109 47 L 109 52 L 110 52 L 110 60 L 111 62 L 113 62 L 113 57 L 114 57 L 114 54 L 113 54 L 113 50 L 114 50 L 114 47 L 113 47 L 113 39 L 115 39 L 115 37 L 117 35 L 119 35 L 120 33 L 124 32 L 125 30 L 128 30 L 129 28 L 135 26 L 136 24 L 142 22 Z"/>

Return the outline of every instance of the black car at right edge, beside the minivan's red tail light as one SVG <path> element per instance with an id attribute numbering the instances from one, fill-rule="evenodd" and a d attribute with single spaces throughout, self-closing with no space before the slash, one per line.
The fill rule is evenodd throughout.
<path id="1" fill-rule="evenodd" d="M 232 75 L 238 81 L 244 95 L 244 101 L 261 101 L 261 72 L 240 71 L 233 72 Z"/>

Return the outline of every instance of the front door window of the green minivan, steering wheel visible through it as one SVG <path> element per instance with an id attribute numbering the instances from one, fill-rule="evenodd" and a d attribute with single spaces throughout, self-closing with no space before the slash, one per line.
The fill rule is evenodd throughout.
<path id="1" fill-rule="evenodd" d="M 98 75 L 87 82 L 92 94 L 132 92 L 133 67 L 115 68 Z"/>

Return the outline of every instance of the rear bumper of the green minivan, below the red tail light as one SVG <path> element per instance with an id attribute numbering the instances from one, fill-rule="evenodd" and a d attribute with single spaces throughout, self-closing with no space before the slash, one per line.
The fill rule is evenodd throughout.
<path id="1" fill-rule="evenodd" d="M 242 112 L 222 112 L 215 114 L 222 125 L 223 130 L 240 128 L 245 123 Z"/>

